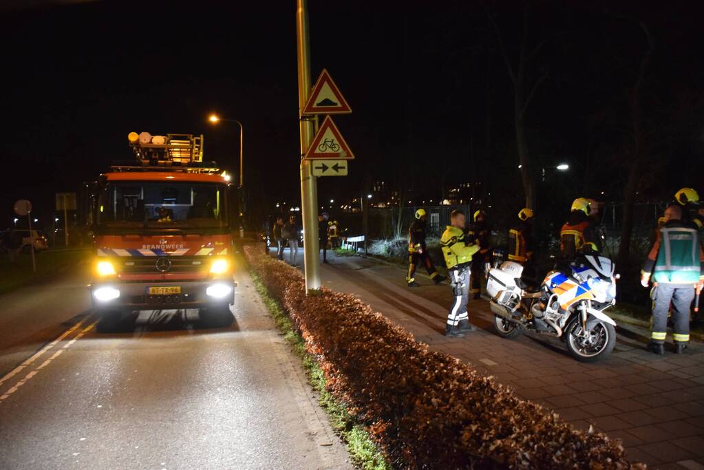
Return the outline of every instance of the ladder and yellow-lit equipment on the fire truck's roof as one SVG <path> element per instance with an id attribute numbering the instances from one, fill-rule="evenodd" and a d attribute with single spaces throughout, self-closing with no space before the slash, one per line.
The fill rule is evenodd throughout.
<path id="1" fill-rule="evenodd" d="M 115 171 L 180 171 L 215 173 L 215 162 L 203 162 L 203 134 L 166 134 L 152 136 L 149 132 L 127 135 L 135 160 L 115 162 Z"/>

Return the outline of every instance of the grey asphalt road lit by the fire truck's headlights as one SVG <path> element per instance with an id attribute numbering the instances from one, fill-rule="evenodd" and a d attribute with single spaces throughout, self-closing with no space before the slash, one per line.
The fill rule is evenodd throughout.
<path id="1" fill-rule="evenodd" d="M 349 467 L 246 272 L 229 328 L 141 312 L 99 334 L 83 268 L 0 296 L 1 469 Z"/>

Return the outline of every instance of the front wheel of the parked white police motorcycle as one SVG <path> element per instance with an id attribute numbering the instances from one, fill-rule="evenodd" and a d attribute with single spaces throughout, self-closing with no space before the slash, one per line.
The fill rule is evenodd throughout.
<path id="1" fill-rule="evenodd" d="M 612 324 L 589 317 L 586 331 L 579 317 L 574 317 L 565 330 L 567 350 L 579 362 L 598 362 L 611 354 L 616 344 L 616 329 Z"/>

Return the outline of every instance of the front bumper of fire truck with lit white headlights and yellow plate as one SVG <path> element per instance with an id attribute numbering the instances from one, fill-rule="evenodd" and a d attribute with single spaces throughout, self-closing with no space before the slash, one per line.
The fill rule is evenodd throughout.
<path id="1" fill-rule="evenodd" d="M 88 286 L 93 307 L 120 310 L 207 308 L 234 304 L 232 279 L 184 282 L 96 282 Z"/>

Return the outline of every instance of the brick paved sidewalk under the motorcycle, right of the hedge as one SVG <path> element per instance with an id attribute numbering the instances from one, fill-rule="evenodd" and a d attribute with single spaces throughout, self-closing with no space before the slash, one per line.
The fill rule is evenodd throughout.
<path id="1" fill-rule="evenodd" d="M 452 300 L 447 285 L 434 286 L 420 276 L 422 286 L 408 288 L 401 267 L 329 258 L 331 264 L 322 266 L 325 286 L 356 294 L 433 350 L 471 363 L 578 428 L 593 426 L 622 439 L 631 461 L 658 469 L 704 469 L 704 345 L 692 343 L 683 355 L 656 356 L 644 349 L 648 331 L 621 324 L 610 358 L 582 364 L 550 336 L 500 338 L 486 300 L 470 301 L 479 331 L 446 338 Z"/>

